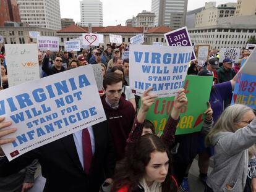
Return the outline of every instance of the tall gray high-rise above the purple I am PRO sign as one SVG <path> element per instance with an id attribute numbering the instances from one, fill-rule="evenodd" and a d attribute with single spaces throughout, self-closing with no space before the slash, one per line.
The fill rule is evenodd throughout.
<path id="1" fill-rule="evenodd" d="M 187 0 L 152 0 L 151 12 L 156 15 L 155 27 L 181 28 L 186 25 Z"/>

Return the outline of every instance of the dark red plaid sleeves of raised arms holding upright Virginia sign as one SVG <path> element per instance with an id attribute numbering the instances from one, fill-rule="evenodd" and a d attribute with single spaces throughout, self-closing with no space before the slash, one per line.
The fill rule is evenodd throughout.
<path id="1" fill-rule="evenodd" d="M 179 118 L 180 119 L 180 118 Z M 161 135 L 161 140 L 166 146 L 172 146 L 174 144 L 174 134 L 176 131 L 177 123 L 179 123 L 179 119 L 174 120 L 171 115 L 166 122 L 164 127 L 163 134 Z M 139 140 L 140 136 L 142 136 L 144 123 L 139 123 L 137 116 L 134 119 L 134 125 L 132 126 L 132 130 L 129 133 L 129 137 L 126 140 L 126 151 Z"/>

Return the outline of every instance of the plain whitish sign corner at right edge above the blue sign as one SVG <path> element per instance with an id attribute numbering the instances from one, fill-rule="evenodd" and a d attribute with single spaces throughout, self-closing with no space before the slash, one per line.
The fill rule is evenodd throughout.
<path id="1" fill-rule="evenodd" d="M 256 64 L 256 49 L 254 49 L 250 54 L 250 56 L 246 59 L 244 65 L 242 65 L 241 69 L 239 70 L 239 73 L 256 75 L 255 64 Z"/>

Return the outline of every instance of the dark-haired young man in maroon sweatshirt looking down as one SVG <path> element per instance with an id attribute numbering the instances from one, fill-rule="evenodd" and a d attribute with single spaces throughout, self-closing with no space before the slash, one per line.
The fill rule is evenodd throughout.
<path id="1" fill-rule="evenodd" d="M 135 111 L 132 103 L 122 93 L 122 75 L 109 73 L 103 80 L 105 94 L 101 101 L 113 137 L 117 161 L 124 158 L 126 140 L 134 122 Z"/>

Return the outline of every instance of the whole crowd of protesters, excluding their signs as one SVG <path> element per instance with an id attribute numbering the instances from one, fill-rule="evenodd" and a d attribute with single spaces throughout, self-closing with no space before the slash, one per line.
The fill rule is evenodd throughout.
<path id="1" fill-rule="evenodd" d="M 210 50 L 203 66 L 191 61 L 187 75 L 213 77 L 202 131 L 175 135 L 179 113 L 187 104 L 182 89 L 174 99 L 163 134 L 155 135 L 146 115 L 157 95 L 148 94 L 149 88 L 140 101 L 135 98 L 129 87 L 129 59 L 122 59 L 127 50 L 129 46 L 122 43 L 107 44 L 105 50 L 102 46 L 82 49 L 78 54 L 38 51 L 40 78 L 87 64 L 100 65 L 104 89 L 100 96 L 107 120 L 11 162 L 0 147 L 0 191 L 32 188 L 37 163 L 46 178 L 44 191 L 190 191 L 188 173 L 197 155 L 205 191 L 256 191 L 254 111 L 240 104 L 230 106 L 236 74 L 249 51 L 244 49 L 237 63 L 229 58 L 219 61 L 218 49 Z M 0 59 L 1 89 L 6 89 L 8 64 L 3 53 Z M 0 117 L 0 128 L 9 126 L 11 122 Z M 16 128 L 0 129 L 0 145 L 14 141 L 1 138 L 14 131 Z M 208 175 L 210 157 L 214 165 Z"/>

